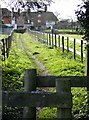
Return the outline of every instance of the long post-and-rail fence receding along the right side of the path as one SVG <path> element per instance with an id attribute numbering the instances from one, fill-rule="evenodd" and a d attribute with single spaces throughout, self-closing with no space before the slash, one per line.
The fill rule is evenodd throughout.
<path id="1" fill-rule="evenodd" d="M 39 41 L 44 41 L 44 43 L 47 43 L 47 45 L 51 45 L 52 47 L 61 47 L 62 52 L 64 52 L 65 49 L 67 50 L 67 52 L 73 52 L 74 59 L 76 59 L 76 55 L 80 55 L 80 61 L 83 62 L 83 58 L 85 57 L 85 41 L 83 42 L 83 40 L 76 40 L 75 38 L 71 40 L 69 37 L 60 36 L 58 34 L 42 33 L 38 31 L 30 31 L 30 33 L 35 35 L 35 37 L 38 38 Z M 43 37 L 43 34 L 45 35 L 45 37 Z M 70 43 L 72 44 L 71 47 Z M 77 44 L 79 44 L 80 51 L 77 50 Z"/>

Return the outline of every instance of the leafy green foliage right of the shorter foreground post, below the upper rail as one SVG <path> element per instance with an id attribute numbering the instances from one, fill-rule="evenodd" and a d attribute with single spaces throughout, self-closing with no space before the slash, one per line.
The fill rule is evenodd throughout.
<path id="1" fill-rule="evenodd" d="M 88 106 L 86 91 L 86 88 L 72 88 L 74 118 L 87 117 Z"/>

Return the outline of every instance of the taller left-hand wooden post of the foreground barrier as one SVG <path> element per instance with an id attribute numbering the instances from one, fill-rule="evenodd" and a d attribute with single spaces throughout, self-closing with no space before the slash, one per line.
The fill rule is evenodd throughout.
<path id="1" fill-rule="evenodd" d="M 25 92 L 36 91 L 36 69 L 27 69 L 24 77 Z M 25 107 L 23 110 L 23 119 L 36 119 L 36 108 Z"/>

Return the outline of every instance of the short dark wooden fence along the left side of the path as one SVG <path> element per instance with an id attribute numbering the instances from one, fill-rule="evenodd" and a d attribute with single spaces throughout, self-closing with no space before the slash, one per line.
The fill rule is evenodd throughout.
<path id="1" fill-rule="evenodd" d="M 9 49 L 11 47 L 12 36 L 13 36 L 13 31 L 11 31 L 10 35 L 7 38 L 1 39 L 1 51 L 4 61 L 9 56 Z"/>

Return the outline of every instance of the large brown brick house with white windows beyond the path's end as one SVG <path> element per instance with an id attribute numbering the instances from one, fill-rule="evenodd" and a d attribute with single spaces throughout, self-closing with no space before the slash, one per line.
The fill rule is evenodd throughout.
<path id="1" fill-rule="evenodd" d="M 52 12 L 23 12 L 25 24 L 30 24 L 36 29 L 50 28 L 58 21 L 57 17 Z"/>

